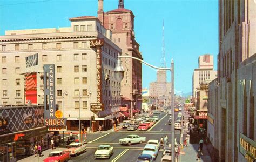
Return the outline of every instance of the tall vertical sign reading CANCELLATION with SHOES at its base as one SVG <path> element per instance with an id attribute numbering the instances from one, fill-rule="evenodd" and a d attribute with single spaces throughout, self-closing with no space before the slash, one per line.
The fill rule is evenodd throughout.
<path id="1" fill-rule="evenodd" d="M 44 125 L 50 127 L 66 126 L 66 119 L 56 118 L 55 105 L 55 65 L 44 65 Z"/>

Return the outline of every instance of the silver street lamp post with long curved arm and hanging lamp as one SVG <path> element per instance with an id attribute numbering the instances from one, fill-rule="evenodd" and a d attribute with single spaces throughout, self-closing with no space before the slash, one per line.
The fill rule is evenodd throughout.
<path id="1" fill-rule="evenodd" d="M 150 65 L 146 62 L 144 62 L 143 60 L 139 59 L 139 58 L 136 58 L 136 57 L 132 57 L 132 56 L 120 56 L 119 53 L 118 53 L 118 59 L 117 59 L 117 66 L 116 68 L 114 68 L 114 76 L 115 78 L 121 82 L 121 80 L 124 78 L 124 69 L 121 65 L 121 58 L 131 58 L 131 59 L 136 59 L 138 60 L 139 62 L 141 63 L 144 63 L 146 64 L 147 66 L 150 66 L 151 68 L 154 68 L 154 69 L 159 69 L 159 70 L 170 70 L 171 71 L 171 82 L 172 82 L 172 88 L 171 88 L 171 92 L 172 92 L 172 117 L 174 118 L 174 63 L 173 63 L 173 59 L 171 61 L 171 68 L 159 68 L 157 66 L 153 66 L 153 65 Z M 174 120 L 172 120 L 172 161 L 175 161 L 175 142 L 174 142 Z"/>

